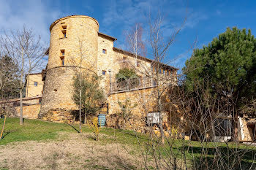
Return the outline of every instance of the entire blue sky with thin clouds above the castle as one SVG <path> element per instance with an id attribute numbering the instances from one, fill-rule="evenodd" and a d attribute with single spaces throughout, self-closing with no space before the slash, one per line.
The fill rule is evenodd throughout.
<path id="1" fill-rule="evenodd" d="M 148 11 L 164 16 L 163 36 L 187 22 L 170 47 L 167 61 L 182 68 L 196 47 L 208 45 L 230 26 L 251 28 L 256 33 L 256 1 L 165 1 L 165 0 L 0 0 L 0 34 L 3 29 L 33 28 L 49 44 L 49 26 L 54 20 L 67 15 L 89 15 L 99 21 L 99 31 L 116 37 L 115 47 L 125 48 L 125 32 L 135 23 L 146 28 Z M 144 39 L 147 40 L 145 31 Z M 173 61 L 173 59 L 176 59 Z"/>

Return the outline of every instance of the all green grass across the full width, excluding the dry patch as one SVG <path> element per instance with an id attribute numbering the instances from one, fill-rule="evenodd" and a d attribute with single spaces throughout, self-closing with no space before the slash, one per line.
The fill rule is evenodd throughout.
<path id="1" fill-rule="evenodd" d="M 0 129 L 2 128 L 3 120 L 0 120 Z M 68 125 L 64 123 L 50 123 L 44 122 L 41 120 L 24 120 L 23 125 L 19 125 L 19 118 L 7 118 L 6 126 L 4 128 L 4 138 L 0 140 L 0 145 L 10 144 L 12 142 L 25 142 L 25 141 L 45 141 L 45 140 L 60 140 L 65 139 L 65 136 L 60 136 L 60 132 L 67 132 L 69 134 L 78 134 L 78 125 Z M 82 128 L 83 134 L 91 133 L 90 129 L 83 125 Z M 125 131 L 120 129 L 112 128 L 101 128 L 100 141 L 97 144 L 105 145 L 111 143 L 125 144 L 129 145 L 132 148 L 131 154 L 136 154 L 139 152 L 140 148 L 146 147 L 146 144 L 150 144 L 148 136 L 146 134 L 138 134 L 134 131 Z M 91 138 L 93 140 L 93 138 Z M 138 141 L 144 143 L 142 145 L 138 144 Z M 182 150 L 188 150 L 187 158 L 189 160 L 199 159 L 202 153 L 202 146 L 200 142 L 195 141 L 184 141 L 181 139 L 172 140 L 172 147 L 167 145 L 167 142 L 164 146 L 159 147 L 159 152 L 164 156 L 175 154 L 176 158 L 181 158 L 183 156 Z M 184 143 L 183 143 L 184 142 Z M 15 143 L 14 143 L 15 144 Z M 214 152 L 218 149 L 219 152 L 222 152 L 223 155 L 226 155 L 227 152 L 233 150 L 248 150 L 244 155 L 243 163 L 252 163 L 254 158 L 255 147 L 246 146 L 244 144 L 239 144 L 239 147 L 236 147 L 236 143 L 212 143 L 208 142 L 204 146 L 208 150 L 207 157 L 211 159 L 214 157 Z M 217 148 L 217 149 L 216 149 Z M 172 150 L 172 151 L 170 151 Z M 228 155 L 228 160 L 232 160 L 232 155 Z M 202 161 L 202 160 L 200 160 Z M 200 162 L 198 160 L 198 162 Z"/>

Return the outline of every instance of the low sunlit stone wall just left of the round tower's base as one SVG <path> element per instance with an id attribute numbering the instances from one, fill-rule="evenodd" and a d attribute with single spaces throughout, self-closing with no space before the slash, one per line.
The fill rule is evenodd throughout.
<path id="1" fill-rule="evenodd" d="M 41 104 L 23 106 L 23 117 L 27 119 L 37 119 Z M 16 115 L 20 115 L 20 107 L 15 107 Z"/>

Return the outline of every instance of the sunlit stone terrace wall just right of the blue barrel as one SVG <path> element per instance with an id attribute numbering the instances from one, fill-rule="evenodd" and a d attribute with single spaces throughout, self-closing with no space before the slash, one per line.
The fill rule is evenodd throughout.
<path id="1" fill-rule="evenodd" d="M 129 107 L 132 112 L 124 123 L 121 115 L 121 107 L 118 104 L 125 104 L 129 100 Z M 106 117 L 106 126 L 110 128 L 125 128 L 133 131 L 146 131 L 146 115 L 148 112 L 155 112 L 154 88 L 131 90 L 121 93 L 113 93 L 108 96 L 109 115 Z"/>

